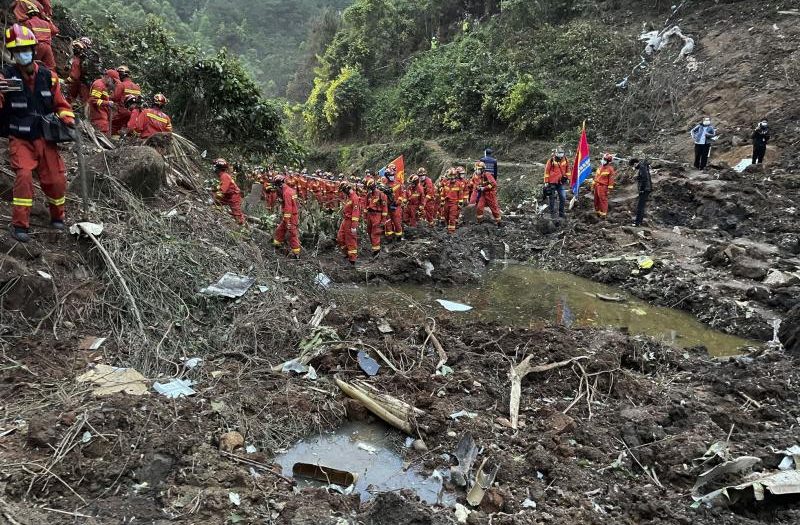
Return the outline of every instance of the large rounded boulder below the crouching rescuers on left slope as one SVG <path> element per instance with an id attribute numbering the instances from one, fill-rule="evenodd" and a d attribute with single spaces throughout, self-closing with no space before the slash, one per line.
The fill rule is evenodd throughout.
<path id="1" fill-rule="evenodd" d="M 166 163 L 156 150 L 146 146 L 126 146 L 98 153 L 87 159 L 87 186 L 94 198 L 113 195 L 108 177 L 124 184 L 134 195 L 154 197 L 166 176 Z M 70 191 L 80 195 L 81 181 L 76 177 Z"/>

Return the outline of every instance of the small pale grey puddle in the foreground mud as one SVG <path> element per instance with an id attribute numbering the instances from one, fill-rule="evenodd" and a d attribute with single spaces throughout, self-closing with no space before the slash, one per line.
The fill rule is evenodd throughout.
<path id="1" fill-rule="evenodd" d="M 425 476 L 403 461 L 403 440 L 399 433 L 381 425 L 351 422 L 334 432 L 299 441 L 275 461 L 283 475 L 291 477 L 296 463 L 321 465 L 357 476 L 352 491 L 369 500 L 379 492 L 413 490 L 428 504 L 454 505 L 455 497 L 446 494 L 440 476 Z M 298 478 L 297 486 L 320 487 L 325 483 Z"/>

